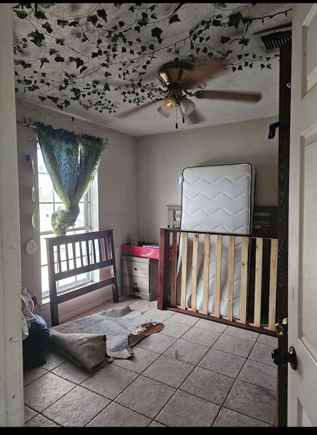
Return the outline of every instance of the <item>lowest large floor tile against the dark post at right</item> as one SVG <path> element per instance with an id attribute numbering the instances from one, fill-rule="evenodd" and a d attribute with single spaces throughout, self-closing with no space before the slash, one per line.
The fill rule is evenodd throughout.
<path id="1" fill-rule="evenodd" d="M 272 390 L 237 379 L 223 406 L 272 426 L 275 396 Z"/>

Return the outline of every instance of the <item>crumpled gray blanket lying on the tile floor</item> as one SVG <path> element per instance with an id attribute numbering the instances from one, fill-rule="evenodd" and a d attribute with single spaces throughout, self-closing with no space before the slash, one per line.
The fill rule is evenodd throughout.
<path id="1" fill-rule="evenodd" d="M 153 332 L 151 319 L 129 306 L 101 311 L 50 328 L 50 342 L 73 362 L 89 372 L 111 358 L 129 358 L 131 347 Z M 153 329 L 153 328 L 152 328 Z M 108 357 L 108 358 L 107 358 Z"/>

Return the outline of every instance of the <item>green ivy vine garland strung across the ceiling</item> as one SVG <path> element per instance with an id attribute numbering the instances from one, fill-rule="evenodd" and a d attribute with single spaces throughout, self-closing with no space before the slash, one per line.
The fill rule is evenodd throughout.
<path id="1" fill-rule="evenodd" d="M 158 98 L 158 92 L 164 91 L 157 84 L 155 90 L 153 83 L 143 83 L 148 66 L 160 51 L 164 50 L 173 55 L 174 61 L 197 62 L 199 55 L 208 58 L 215 55 L 226 60 L 233 53 L 230 49 L 232 44 L 240 45 L 241 50 L 248 47 L 248 31 L 255 20 L 264 22 L 278 14 L 287 15 L 291 10 L 251 18 L 250 9 L 257 3 L 249 3 L 235 9 L 230 9 L 226 3 L 210 3 L 217 11 L 215 14 L 191 28 L 181 41 L 165 45 L 164 31 L 161 27 L 180 22 L 178 11 L 186 7 L 187 3 L 175 3 L 172 12 L 167 16 L 159 15 L 161 3 L 151 6 L 145 3 L 131 3 L 128 8 L 131 13 L 129 23 L 119 21 L 111 27 L 107 25 L 107 11 L 109 13 L 109 9 L 113 7 L 120 9 L 127 3 L 107 3 L 106 10 L 101 8 L 101 3 L 89 3 L 94 7 L 94 11 L 88 16 L 76 19 L 56 16 L 52 11 L 55 4 L 20 3 L 13 6 L 16 16 L 21 20 L 28 20 L 34 29 L 25 37 L 14 41 L 16 92 L 22 91 L 25 95 L 36 96 L 42 102 L 51 100 L 60 110 L 69 106 L 71 101 L 77 101 L 85 109 L 93 108 L 100 113 L 115 113 L 118 108 L 108 99 L 110 85 L 107 80 L 112 75 L 110 67 L 116 66 L 118 78 L 128 82 L 126 86 L 114 88 L 119 91 L 122 101 L 139 105 L 147 99 Z M 240 32 L 239 37 L 231 39 L 226 36 L 226 28 L 232 26 Z M 59 31 L 58 36 L 54 36 L 53 29 L 56 28 Z M 219 46 L 212 47 L 211 31 L 216 31 L 216 28 Z M 61 30 L 65 32 L 65 37 L 60 37 Z M 82 53 L 78 51 L 78 47 L 74 48 L 68 43 L 67 37 L 70 38 L 70 32 L 75 33 L 81 42 Z M 135 32 L 139 36 L 133 39 L 131 35 Z M 180 45 L 186 46 L 187 51 L 190 49 L 190 54 L 177 48 Z M 38 47 L 38 57 L 32 60 L 23 59 L 28 48 L 34 46 Z M 63 47 L 73 53 L 73 56 L 63 57 Z M 233 72 L 245 67 L 252 68 L 255 64 L 262 69 L 271 68 L 272 60 L 278 57 L 278 54 L 264 57 L 256 53 L 243 53 L 237 55 L 236 60 L 228 65 Z M 60 66 L 58 78 L 48 74 L 46 67 L 52 65 L 53 69 Z M 96 73 L 101 77 L 100 80 L 91 79 Z"/>

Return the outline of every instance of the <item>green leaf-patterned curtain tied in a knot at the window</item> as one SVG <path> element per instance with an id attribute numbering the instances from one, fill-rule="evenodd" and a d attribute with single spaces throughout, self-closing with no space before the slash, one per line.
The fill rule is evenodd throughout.
<path id="1" fill-rule="evenodd" d="M 75 225 L 79 201 L 94 181 L 105 145 L 100 137 L 35 124 L 44 163 L 63 203 L 52 214 L 53 233 L 64 236 Z"/>

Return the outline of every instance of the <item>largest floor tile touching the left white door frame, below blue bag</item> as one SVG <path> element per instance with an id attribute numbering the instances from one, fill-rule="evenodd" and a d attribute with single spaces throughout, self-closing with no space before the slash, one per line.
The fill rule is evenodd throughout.
<path id="1" fill-rule="evenodd" d="M 24 404 L 41 412 L 75 386 L 54 373 L 47 373 L 24 387 Z"/>

